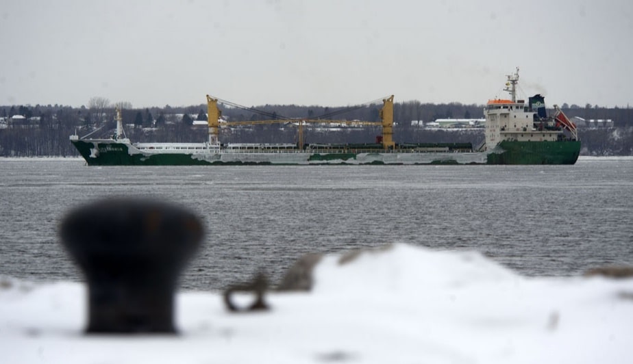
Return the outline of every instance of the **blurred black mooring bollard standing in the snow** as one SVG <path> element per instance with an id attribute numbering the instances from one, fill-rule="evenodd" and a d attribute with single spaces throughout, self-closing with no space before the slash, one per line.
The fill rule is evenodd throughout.
<path id="1" fill-rule="evenodd" d="M 203 237 L 193 213 L 153 200 L 99 200 L 71 211 L 60 237 L 88 281 L 87 333 L 175 333 L 178 276 Z"/>

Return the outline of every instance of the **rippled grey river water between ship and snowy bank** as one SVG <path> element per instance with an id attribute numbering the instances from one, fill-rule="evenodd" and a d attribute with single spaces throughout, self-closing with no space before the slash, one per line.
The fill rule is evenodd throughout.
<path id="1" fill-rule="evenodd" d="M 526 276 L 633 264 L 633 158 L 574 166 L 88 167 L 0 159 L 0 276 L 82 280 L 58 238 L 72 207 L 146 196 L 201 217 L 184 289 L 258 270 L 273 283 L 308 252 L 406 243 L 477 250 Z"/>

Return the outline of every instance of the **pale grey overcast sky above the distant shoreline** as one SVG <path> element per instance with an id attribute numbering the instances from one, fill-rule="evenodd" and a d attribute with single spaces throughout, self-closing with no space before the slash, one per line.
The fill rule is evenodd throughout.
<path id="1" fill-rule="evenodd" d="M 630 0 L 0 0 L 0 105 L 633 106 Z"/>

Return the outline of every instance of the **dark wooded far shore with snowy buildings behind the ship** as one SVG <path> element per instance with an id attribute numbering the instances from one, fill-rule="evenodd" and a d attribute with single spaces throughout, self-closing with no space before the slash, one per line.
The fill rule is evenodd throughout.
<path id="1" fill-rule="evenodd" d="M 187 107 L 134 108 L 130 103 L 110 103 L 94 97 L 87 106 L 8 105 L 0 106 L 0 156 L 78 156 L 69 142 L 69 135 L 107 138 L 114 128 L 114 108 L 121 107 L 125 133 L 134 142 L 203 142 L 208 138 L 205 127 L 195 127 L 195 120 L 206 120 L 206 104 Z M 269 114 L 220 105 L 224 118 L 230 121 L 272 118 L 323 118 L 323 120 L 379 121 L 382 103 L 361 107 L 323 107 L 318 105 L 253 106 Z M 483 118 L 484 105 L 461 103 L 430 104 L 405 101 L 394 104 L 394 138 L 396 142 L 471 142 L 484 140 L 483 130 L 429 130 L 412 124 L 412 120 L 429 122 L 438 118 Z M 347 112 L 343 112 L 347 109 Z M 596 105 L 563 104 L 569 117 L 611 119 L 614 127 L 582 129 L 582 155 L 633 155 L 633 109 L 606 108 Z M 12 118 L 20 115 L 23 118 Z M 330 115 L 330 116 L 328 116 Z M 333 116 L 332 116 L 333 115 Z M 305 127 L 304 142 L 356 143 L 374 142 L 380 127 L 341 128 Z M 270 125 L 250 125 L 221 130 L 222 142 L 291 142 L 296 143 L 297 127 L 282 122 Z"/>

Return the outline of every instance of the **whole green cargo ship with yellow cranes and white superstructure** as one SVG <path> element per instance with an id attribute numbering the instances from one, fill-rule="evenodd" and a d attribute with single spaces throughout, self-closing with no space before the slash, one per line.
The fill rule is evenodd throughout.
<path id="1" fill-rule="evenodd" d="M 489 100 L 484 109 L 486 138 L 471 143 L 397 143 L 393 140 L 393 95 L 382 99 L 380 121 L 347 124 L 382 127 L 373 143 L 304 144 L 303 126 L 333 120 L 286 119 L 220 122 L 219 99 L 207 95 L 208 142 L 132 143 L 125 137 L 121 110 L 111 138 L 71 135 L 88 166 L 311 165 L 311 164 L 575 164 L 580 154 L 578 130 L 558 106 L 547 116 L 544 98 L 517 99 L 519 69 L 508 75 L 510 99 Z M 226 103 L 222 101 L 223 103 Z M 247 108 L 251 109 L 251 108 Z M 223 127 L 287 122 L 297 126 L 299 142 L 286 144 L 221 143 Z"/>

